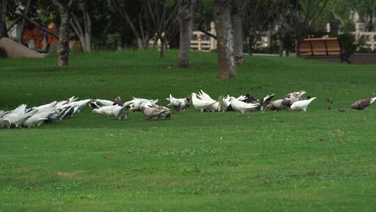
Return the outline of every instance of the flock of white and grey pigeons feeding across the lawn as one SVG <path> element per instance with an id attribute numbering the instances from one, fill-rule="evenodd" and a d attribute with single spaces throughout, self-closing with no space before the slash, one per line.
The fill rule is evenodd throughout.
<path id="1" fill-rule="evenodd" d="M 315 100 L 316 97 L 302 97 L 306 91 L 295 91 L 288 93 L 284 98 L 272 101 L 274 93 L 267 95 L 258 100 L 256 96 L 246 94 L 245 96 L 219 96 L 218 100 L 212 99 L 203 90 L 198 93 L 191 93 L 186 98 L 174 98 L 171 96 L 166 98 L 169 100 L 169 107 L 175 112 L 185 111 L 190 105 L 199 109 L 201 112 L 228 112 L 236 111 L 244 114 L 248 111 L 263 112 L 265 109 L 270 110 L 287 110 L 287 111 L 304 111 L 308 105 Z M 67 117 L 71 117 L 80 111 L 86 105 L 93 109 L 94 114 L 102 116 L 115 116 L 119 120 L 127 119 L 129 112 L 142 112 L 146 119 L 170 119 L 171 109 L 157 105 L 157 100 L 149 100 L 146 98 L 136 98 L 132 96 L 132 100 L 122 103 L 120 96 L 115 100 L 102 99 L 86 99 L 77 100 L 72 96 L 68 100 L 54 101 L 45 103 L 38 107 L 27 107 L 22 104 L 10 111 L 0 110 L 0 128 L 31 128 L 41 126 L 43 123 L 55 123 Z M 352 109 L 363 110 L 375 102 L 375 98 L 367 98 L 357 100 L 351 105 Z M 342 110 L 341 110 L 342 111 Z M 343 110 L 344 111 L 344 110 Z"/>

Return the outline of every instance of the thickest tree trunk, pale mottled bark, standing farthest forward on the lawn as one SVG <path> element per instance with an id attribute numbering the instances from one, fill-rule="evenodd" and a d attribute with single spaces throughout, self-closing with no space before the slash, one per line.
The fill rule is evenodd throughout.
<path id="1" fill-rule="evenodd" d="M 214 20 L 217 31 L 217 54 L 219 79 L 236 77 L 233 29 L 231 27 L 230 3 L 214 0 Z"/>

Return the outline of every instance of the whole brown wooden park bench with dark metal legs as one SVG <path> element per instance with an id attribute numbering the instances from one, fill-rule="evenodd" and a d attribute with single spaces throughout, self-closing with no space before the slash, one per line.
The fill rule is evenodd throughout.
<path id="1" fill-rule="evenodd" d="M 343 51 L 338 38 L 306 38 L 300 43 L 299 52 L 306 59 L 339 57 L 341 63 L 350 63 L 351 53 Z"/>

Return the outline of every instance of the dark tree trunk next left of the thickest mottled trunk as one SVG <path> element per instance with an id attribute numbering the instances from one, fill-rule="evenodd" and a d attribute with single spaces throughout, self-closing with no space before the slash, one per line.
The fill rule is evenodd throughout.
<path id="1" fill-rule="evenodd" d="M 189 44 L 191 42 L 189 34 L 189 0 L 179 0 L 179 67 L 187 68 L 189 66 Z"/>

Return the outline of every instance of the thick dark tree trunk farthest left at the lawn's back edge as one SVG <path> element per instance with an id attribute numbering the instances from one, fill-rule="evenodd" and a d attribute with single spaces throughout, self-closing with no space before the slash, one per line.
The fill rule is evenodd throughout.
<path id="1" fill-rule="evenodd" d="M 69 60 L 69 20 L 70 10 L 67 1 L 58 3 L 60 13 L 60 29 L 58 33 L 58 66 L 68 66 Z"/>

